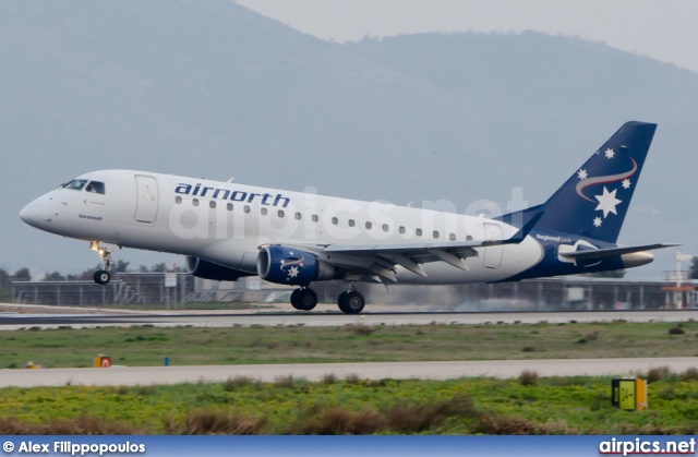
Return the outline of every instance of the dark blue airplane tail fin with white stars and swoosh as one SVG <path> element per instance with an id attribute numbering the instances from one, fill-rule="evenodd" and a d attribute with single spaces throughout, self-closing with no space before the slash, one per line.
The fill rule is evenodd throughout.
<path id="1" fill-rule="evenodd" d="M 541 205 L 545 213 L 535 228 L 615 243 L 655 129 L 625 123 Z"/>

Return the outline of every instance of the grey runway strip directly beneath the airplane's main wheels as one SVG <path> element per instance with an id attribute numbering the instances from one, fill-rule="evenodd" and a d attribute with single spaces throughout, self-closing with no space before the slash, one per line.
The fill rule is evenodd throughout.
<path id="1" fill-rule="evenodd" d="M 93 309 L 94 310 L 94 309 Z M 328 309 L 329 310 L 329 309 Z M 11 330 L 39 326 L 55 328 L 69 325 L 95 327 L 98 325 L 192 325 L 201 327 L 232 326 L 344 326 L 368 325 L 428 325 L 428 324 L 551 324 L 570 322 L 683 322 L 698 318 L 698 310 L 653 311 L 553 311 L 553 312 L 364 312 L 344 314 L 320 310 L 316 312 L 152 312 L 139 314 L 0 314 L 0 329 Z M 323 312 L 325 311 L 325 312 Z"/>

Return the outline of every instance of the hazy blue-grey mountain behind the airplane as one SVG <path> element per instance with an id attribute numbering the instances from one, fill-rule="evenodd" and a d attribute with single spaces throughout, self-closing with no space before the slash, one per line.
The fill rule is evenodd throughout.
<path id="1" fill-rule="evenodd" d="M 55 0 L 0 3 L 0 266 L 12 270 L 96 263 L 86 244 L 16 217 L 89 170 L 474 213 L 513 188 L 544 201 L 631 119 L 659 129 L 621 241 L 698 251 L 698 74 L 603 44 L 527 33 L 340 45 L 224 0 Z"/>

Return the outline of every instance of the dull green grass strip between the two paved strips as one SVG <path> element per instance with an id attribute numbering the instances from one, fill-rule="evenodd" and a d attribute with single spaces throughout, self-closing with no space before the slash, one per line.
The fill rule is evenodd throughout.
<path id="1" fill-rule="evenodd" d="M 698 322 L 344 327 L 103 327 L 0 332 L 0 369 L 696 357 Z"/>

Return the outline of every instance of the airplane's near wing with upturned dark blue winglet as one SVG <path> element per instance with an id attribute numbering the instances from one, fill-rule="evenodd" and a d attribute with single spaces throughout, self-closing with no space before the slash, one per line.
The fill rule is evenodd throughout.
<path id="1" fill-rule="evenodd" d="M 353 280 L 372 282 L 397 282 L 395 266 L 400 265 L 417 275 L 426 276 L 422 264 L 445 262 L 457 268 L 469 270 L 466 258 L 478 256 L 476 248 L 502 244 L 518 244 L 526 239 L 543 211 L 534 215 L 514 236 L 505 240 L 480 240 L 467 242 L 409 242 L 371 244 L 313 245 L 316 251 L 332 257 L 332 263 L 346 268 Z M 305 246 L 309 248 L 309 246 Z M 353 275 L 353 276 L 352 276 Z"/>

